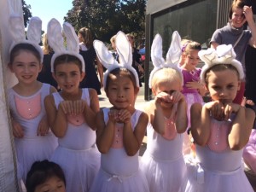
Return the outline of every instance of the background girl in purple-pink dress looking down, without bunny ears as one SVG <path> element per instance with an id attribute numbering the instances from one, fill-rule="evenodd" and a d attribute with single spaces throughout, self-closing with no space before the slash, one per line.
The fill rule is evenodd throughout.
<path id="1" fill-rule="evenodd" d="M 197 68 L 199 62 L 198 52 L 201 50 L 201 44 L 195 41 L 189 41 L 183 45 L 182 58 L 184 61 L 181 66 L 183 73 L 183 90 L 182 93 L 188 103 L 187 115 L 188 115 L 188 128 L 190 127 L 190 108 L 195 102 L 202 103 L 202 96 L 206 94 L 205 87 L 201 84 L 200 73 L 201 68 Z M 184 136 L 183 141 L 183 154 L 189 154 L 190 142 L 189 135 Z"/>

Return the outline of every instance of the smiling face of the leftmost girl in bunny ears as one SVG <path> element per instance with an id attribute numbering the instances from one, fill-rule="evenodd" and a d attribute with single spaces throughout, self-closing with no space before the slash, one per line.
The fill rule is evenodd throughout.
<path id="1" fill-rule="evenodd" d="M 36 82 L 42 67 L 38 58 L 28 50 L 20 50 L 19 55 L 15 56 L 14 62 L 9 64 L 11 72 L 15 73 L 19 83 L 23 84 Z"/>

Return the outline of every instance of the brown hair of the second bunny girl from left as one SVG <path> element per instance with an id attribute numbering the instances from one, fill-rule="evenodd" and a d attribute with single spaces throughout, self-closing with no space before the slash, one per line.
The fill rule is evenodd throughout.
<path id="1" fill-rule="evenodd" d="M 56 67 L 58 65 L 61 65 L 63 63 L 69 63 L 69 62 L 73 62 L 74 64 L 76 64 L 79 67 L 80 73 L 82 73 L 82 62 L 79 60 L 78 57 L 74 55 L 68 55 L 68 54 L 64 54 L 56 57 L 54 61 L 54 72 L 56 72 Z"/>

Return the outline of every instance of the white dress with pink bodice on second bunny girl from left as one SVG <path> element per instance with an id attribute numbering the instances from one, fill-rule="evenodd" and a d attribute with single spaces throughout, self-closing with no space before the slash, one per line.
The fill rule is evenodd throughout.
<path id="1" fill-rule="evenodd" d="M 60 93 L 53 94 L 55 106 L 64 101 Z M 81 99 L 90 106 L 88 89 L 82 89 Z M 100 166 L 100 153 L 96 148 L 96 131 L 86 124 L 81 114 L 77 118 L 67 116 L 67 132 L 58 138 L 59 146 L 51 158 L 59 164 L 66 177 L 67 192 L 87 192 Z"/>

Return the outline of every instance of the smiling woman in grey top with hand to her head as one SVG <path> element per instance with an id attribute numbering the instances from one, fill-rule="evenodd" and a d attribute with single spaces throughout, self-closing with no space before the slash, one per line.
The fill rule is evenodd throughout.
<path id="1" fill-rule="evenodd" d="M 211 47 L 216 49 L 219 44 L 232 44 L 236 52 L 236 60 L 241 62 L 245 71 L 245 52 L 247 45 L 256 48 L 256 26 L 253 20 L 252 7 L 247 6 L 246 1 L 234 0 L 230 7 L 229 22 L 227 26 L 217 29 L 210 41 Z M 250 28 L 244 30 L 247 22 Z M 242 79 L 240 90 L 237 91 L 235 103 L 241 104 L 245 91 L 245 79 Z"/>

